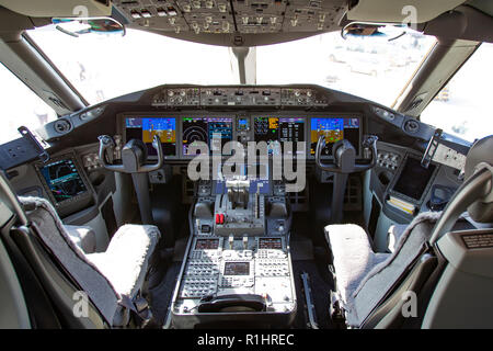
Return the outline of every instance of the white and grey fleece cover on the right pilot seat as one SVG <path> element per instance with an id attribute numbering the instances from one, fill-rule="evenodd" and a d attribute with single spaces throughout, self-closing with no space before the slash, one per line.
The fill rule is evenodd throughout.
<path id="1" fill-rule="evenodd" d="M 334 257 L 336 290 L 346 324 L 359 327 L 414 262 L 429 239 L 442 213 L 417 215 L 402 233 L 392 253 L 375 253 L 363 228 L 355 225 L 325 227 Z"/>

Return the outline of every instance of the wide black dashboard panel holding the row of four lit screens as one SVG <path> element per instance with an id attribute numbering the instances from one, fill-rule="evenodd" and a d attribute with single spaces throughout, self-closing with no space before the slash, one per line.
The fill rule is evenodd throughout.
<path id="1" fill-rule="evenodd" d="M 268 155 L 305 155 L 314 158 L 320 135 L 324 134 L 326 147 L 322 157 L 332 158 L 332 146 L 347 139 L 362 157 L 364 118 L 359 113 L 208 113 L 165 112 L 131 113 L 117 116 L 123 141 L 142 140 L 149 158 L 156 157 L 151 141 L 159 135 L 167 159 L 190 159 L 202 152 L 230 156 L 225 149 L 228 141 L 265 143 Z M 289 145 L 285 144 L 290 141 Z M 298 143 L 305 143 L 305 150 Z M 205 148 L 206 147 L 206 148 Z"/>

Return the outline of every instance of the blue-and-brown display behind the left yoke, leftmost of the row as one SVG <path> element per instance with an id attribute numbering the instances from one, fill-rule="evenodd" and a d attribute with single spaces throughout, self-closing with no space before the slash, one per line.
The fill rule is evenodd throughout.
<path id="1" fill-rule="evenodd" d="M 127 117 L 125 118 L 126 141 L 142 140 L 149 156 L 157 156 L 152 147 L 154 135 L 161 139 L 164 156 L 176 155 L 176 120 L 167 117 Z"/>

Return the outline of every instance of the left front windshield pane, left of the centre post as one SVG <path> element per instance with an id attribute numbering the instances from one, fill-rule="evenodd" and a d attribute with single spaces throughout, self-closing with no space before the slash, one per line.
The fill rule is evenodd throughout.
<path id="1" fill-rule="evenodd" d="M 48 25 L 28 35 L 91 104 L 165 83 L 239 83 L 227 47 L 136 30 L 73 37 Z"/>

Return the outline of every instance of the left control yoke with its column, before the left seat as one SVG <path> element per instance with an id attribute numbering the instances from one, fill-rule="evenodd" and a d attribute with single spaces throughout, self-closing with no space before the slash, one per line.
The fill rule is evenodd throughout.
<path id="1" fill-rule="evenodd" d="M 108 135 L 101 135 L 98 139 L 100 140 L 100 159 L 103 167 L 114 172 L 131 174 L 131 181 L 139 202 L 140 219 L 142 224 L 154 224 L 147 173 L 160 169 L 163 163 L 162 146 L 159 136 L 154 135 L 152 139 L 152 147 L 158 152 L 158 161 L 154 165 L 146 165 L 147 147 L 138 139 L 131 139 L 123 147 L 122 165 L 108 163 L 106 155 L 113 155 L 115 141 Z"/>

